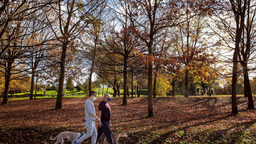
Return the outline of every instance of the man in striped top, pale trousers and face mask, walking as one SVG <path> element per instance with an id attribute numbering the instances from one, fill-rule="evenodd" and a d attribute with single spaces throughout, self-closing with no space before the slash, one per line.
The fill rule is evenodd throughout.
<path id="1" fill-rule="evenodd" d="M 100 123 L 100 119 L 95 115 L 95 108 L 93 105 L 93 101 L 97 98 L 97 92 L 90 92 L 90 97 L 85 101 L 84 109 L 85 109 L 85 122 L 84 125 L 86 126 L 87 132 L 78 140 L 74 141 L 75 144 L 81 143 L 87 138 L 92 136 L 92 144 L 96 143 L 97 140 L 97 130 L 95 125 L 95 120 Z"/>

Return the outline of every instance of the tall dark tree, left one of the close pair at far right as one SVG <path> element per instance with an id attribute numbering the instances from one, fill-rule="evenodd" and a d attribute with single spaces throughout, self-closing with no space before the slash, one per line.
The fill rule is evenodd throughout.
<path id="1" fill-rule="evenodd" d="M 245 26 L 246 11 L 249 1 L 247 0 L 229 0 L 227 2 L 219 3 L 215 7 L 216 17 L 221 21 L 219 26 L 221 29 L 227 31 L 230 38 L 233 40 L 233 68 L 232 68 L 232 84 L 231 84 L 231 103 L 232 114 L 238 114 L 236 87 L 237 87 L 237 74 L 238 74 L 238 54 L 240 50 L 241 38 Z M 221 17 L 220 17 L 221 16 Z M 225 39 L 221 37 L 222 39 Z M 228 44 L 228 42 L 226 41 Z M 231 47 L 231 46 L 230 46 Z"/>

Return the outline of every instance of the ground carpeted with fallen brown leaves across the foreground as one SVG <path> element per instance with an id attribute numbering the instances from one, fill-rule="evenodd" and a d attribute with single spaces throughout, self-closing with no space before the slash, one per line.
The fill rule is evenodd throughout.
<path id="1" fill-rule="evenodd" d="M 0 144 L 54 143 L 51 135 L 86 132 L 82 122 L 85 100 L 63 98 L 61 110 L 54 110 L 54 99 L 13 100 L 0 105 Z M 101 100 L 94 101 L 95 108 Z M 122 101 L 116 97 L 109 102 L 111 123 L 129 136 L 120 138 L 119 143 L 256 143 L 256 110 L 246 109 L 244 97 L 237 97 L 238 115 L 230 114 L 229 96 L 157 97 L 153 98 L 153 118 L 146 117 L 147 98 L 127 98 L 127 106 L 121 106 Z"/>

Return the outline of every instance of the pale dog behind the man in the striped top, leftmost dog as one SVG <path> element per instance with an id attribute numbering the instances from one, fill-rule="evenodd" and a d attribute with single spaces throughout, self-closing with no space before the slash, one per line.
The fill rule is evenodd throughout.
<path id="1" fill-rule="evenodd" d="M 72 143 L 74 144 L 74 141 L 76 141 L 78 138 L 82 137 L 83 133 L 77 133 L 77 132 L 62 132 L 60 134 L 57 135 L 57 137 L 55 137 L 54 139 L 52 139 L 51 136 L 51 140 L 55 140 L 56 138 L 57 141 L 55 142 L 55 144 L 57 143 L 61 143 L 63 144 L 64 138 L 67 138 L 69 141 L 72 141 Z"/>

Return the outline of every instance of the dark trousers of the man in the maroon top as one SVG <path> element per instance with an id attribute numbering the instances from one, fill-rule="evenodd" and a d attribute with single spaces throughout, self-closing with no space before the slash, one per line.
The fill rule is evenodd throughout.
<path id="1" fill-rule="evenodd" d="M 98 137 L 97 137 L 97 140 L 96 140 L 96 143 L 99 141 L 102 133 L 104 133 L 108 139 L 108 142 L 110 144 L 114 144 L 113 142 L 113 139 L 112 139 L 112 132 L 110 130 L 110 127 L 109 127 L 109 123 L 107 121 L 101 121 L 101 127 L 98 126 Z"/>

